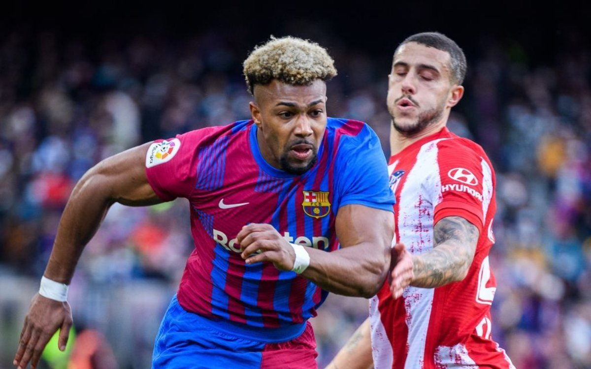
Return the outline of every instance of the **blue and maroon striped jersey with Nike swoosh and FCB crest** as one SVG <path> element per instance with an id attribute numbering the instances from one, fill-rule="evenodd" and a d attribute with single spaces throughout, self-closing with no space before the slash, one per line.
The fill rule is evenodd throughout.
<path id="1" fill-rule="evenodd" d="M 302 175 L 269 165 L 252 120 L 194 130 L 152 143 L 146 171 L 164 201 L 189 200 L 195 249 L 178 289 L 190 312 L 265 328 L 316 315 L 327 292 L 272 263 L 247 265 L 236 235 L 269 223 L 291 243 L 339 249 L 339 208 L 361 204 L 392 211 L 394 196 L 379 139 L 365 123 L 328 118 L 318 160 Z"/>

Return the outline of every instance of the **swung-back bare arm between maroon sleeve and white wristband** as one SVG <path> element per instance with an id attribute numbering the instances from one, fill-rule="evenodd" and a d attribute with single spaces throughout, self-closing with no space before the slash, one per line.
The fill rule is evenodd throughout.
<path id="1" fill-rule="evenodd" d="M 146 143 L 111 156 L 83 175 L 61 215 L 44 276 L 70 283 L 84 246 L 113 203 L 137 206 L 161 202 L 145 175 L 148 146 Z"/>

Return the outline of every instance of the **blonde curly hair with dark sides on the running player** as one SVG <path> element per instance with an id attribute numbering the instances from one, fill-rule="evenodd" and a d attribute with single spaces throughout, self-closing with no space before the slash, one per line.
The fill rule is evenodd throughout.
<path id="1" fill-rule="evenodd" d="M 268 84 L 274 79 L 298 86 L 317 79 L 330 80 L 337 74 L 334 64 L 326 49 L 313 41 L 271 36 L 248 55 L 243 73 L 248 90 L 254 93 L 255 84 Z"/>

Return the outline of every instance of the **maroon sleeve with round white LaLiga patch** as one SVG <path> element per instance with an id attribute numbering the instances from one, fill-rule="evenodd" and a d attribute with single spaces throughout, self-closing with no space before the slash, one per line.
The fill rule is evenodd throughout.
<path id="1" fill-rule="evenodd" d="M 189 197 L 196 182 L 198 131 L 159 139 L 150 145 L 145 158 L 146 177 L 154 192 L 164 201 Z"/>

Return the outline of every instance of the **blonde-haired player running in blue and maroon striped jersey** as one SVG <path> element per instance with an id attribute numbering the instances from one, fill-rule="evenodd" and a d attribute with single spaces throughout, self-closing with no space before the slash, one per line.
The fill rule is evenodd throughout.
<path id="1" fill-rule="evenodd" d="M 61 328 L 77 260 L 109 205 L 189 200 L 191 253 L 154 368 L 313 368 L 308 319 L 328 292 L 375 295 L 390 263 L 394 196 L 378 137 L 327 118 L 324 48 L 272 39 L 244 63 L 252 119 L 157 140 L 80 179 L 25 319 L 15 365 Z"/>

